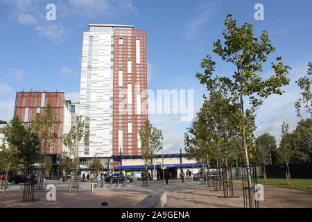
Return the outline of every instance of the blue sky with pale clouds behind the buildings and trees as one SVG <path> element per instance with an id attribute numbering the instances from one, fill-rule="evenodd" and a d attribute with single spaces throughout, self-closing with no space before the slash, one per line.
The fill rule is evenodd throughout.
<path id="1" fill-rule="evenodd" d="M 56 6 L 56 20 L 45 18 L 46 5 Z M 254 5 L 264 6 L 264 21 L 254 19 Z M 202 104 L 205 87 L 195 77 L 200 61 L 211 54 L 212 42 L 221 38 L 224 19 L 232 13 L 239 24 L 251 22 L 256 35 L 269 32 L 277 51 L 292 67 L 291 84 L 282 96 L 271 96 L 257 113 L 257 134 L 279 137 L 281 123 L 293 130 L 299 119 L 294 103 L 299 98 L 295 80 L 306 74 L 312 61 L 312 1 L 92 1 L 0 0 L 0 119 L 12 118 L 15 93 L 22 89 L 66 92 L 78 101 L 83 32 L 88 24 L 132 24 L 146 29 L 148 88 L 194 89 L 194 109 Z M 231 74 L 233 67 L 213 55 L 217 72 Z M 268 63 L 268 65 L 270 65 Z M 263 77 L 272 70 L 265 67 Z M 164 150 L 183 148 L 189 122 L 179 115 L 151 114 L 164 131 Z"/>

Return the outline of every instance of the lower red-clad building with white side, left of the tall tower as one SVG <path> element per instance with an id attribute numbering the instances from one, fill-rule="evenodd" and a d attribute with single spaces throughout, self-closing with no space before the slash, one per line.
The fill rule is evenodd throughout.
<path id="1" fill-rule="evenodd" d="M 48 104 L 55 111 L 59 123 L 50 133 L 54 142 L 46 154 L 52 162 L 51 175 L 60 176 L 62 172 L 59 172 L 58 164 L 64 158 L 62 151 L 67 151 L 62 144 L 62 135 L 69 132 L 75 120 L 75 105 L 65 100 L 64 92 L 17 92 L 14 117 L 19 117 L 26 125 L 35 120 L 37 114 L 43 114 Z"/>

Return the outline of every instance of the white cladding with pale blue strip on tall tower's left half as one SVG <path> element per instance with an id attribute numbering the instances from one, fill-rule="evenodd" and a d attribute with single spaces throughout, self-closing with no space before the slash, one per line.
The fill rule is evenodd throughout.
<path id="1" fill-rule="evenodd" d="M 112 155 L 112 29 L 83 33 L 80 115 L 89 117 L 89 147 L 80 143 L 80 157 Z M 90 40 L 90 42 L 89 42 Z"/>

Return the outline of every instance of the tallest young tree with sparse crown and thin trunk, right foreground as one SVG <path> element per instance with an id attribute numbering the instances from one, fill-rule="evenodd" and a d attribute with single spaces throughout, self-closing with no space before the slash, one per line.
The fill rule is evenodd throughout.
<path id="1" fill-rule="evenodd" d="M 275 47 L 270 44 L 268 32 L 263 31 L 259 39 L 254 36 L 253 25 L 249 23 L 238 26 L 232 15 L 225 18 L 225 30 L 223 38 L 214 42 L 214 50 L 225 62 L 234 65 L 234 74 L 230 77 L 220 77 L 219 80 L 227 85 L 229 99 L 236 107 L 236 127 L 239 128 L 245 151 L 245 163 L 247 165 L 248 182 L 251 185 L 250 175 L 250 144 L 248 137 L 253 136 L 255 112 L 263 104 L 263 101 L 271 94 L 283 94 L 281 87 L 288 85 L 290 79 L 286 78 L 290 67 L 283 64 L 281 57 L 277 57 L 277 64 L 272 62 L 275 74 L 267 80 L 259 76 L 263 71 L 263 64 L 268 60 Z M 216 62 L 207 56 L 202 60 L 201 67 L 204 74 L 197 73 L 201 84 L 207 86 L 210 92 L 216 78 L 213 77 Z M 236 105 L 237 104 L 237 105 Z M 250 146 L 250 148 L 248 148 Z M 250 193 L 252 196 L 252 193 Z"/>

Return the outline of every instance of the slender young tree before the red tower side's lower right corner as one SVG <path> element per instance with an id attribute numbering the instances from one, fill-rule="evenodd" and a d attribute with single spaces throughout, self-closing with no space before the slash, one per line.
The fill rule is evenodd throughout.
<path id="1" fill-rule="evenodd" d="M 152 164 L 155 153 L 162 148 L 162 130 L 155 128 L 149 120 L 146 120 L 139 131 L 142 147 L 142 159 L 144 161 L 146 186 L 148 186 L 148 165 Z"/>

